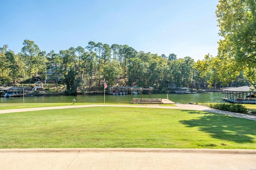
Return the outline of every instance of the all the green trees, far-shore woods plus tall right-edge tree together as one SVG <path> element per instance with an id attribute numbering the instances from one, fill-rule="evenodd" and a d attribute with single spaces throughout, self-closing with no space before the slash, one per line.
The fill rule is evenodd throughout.
<path id="1" fill-rule="evenodd" d="M 59 52 L 41 51 L 34 41 L 24 40 L 21 52 L 15 54 L 8 45 L 0 47 L 0 85 L 62 76 L 67 94 L 86 90 L 102 90 L 103 79 L 108 86 L 153 87 L 168 90 L 166 84 L 200 87 L 230 84 L 238 79 L 256 82 L 256 3 L 255 0 L 219 0 L 216 17 L 220 27 L 218 55 L 205 55 L 203 60 L 191 57 L 168 57 L 136 51 L 128 45 L 108 45 L 90 41 L 86 47 L 70 47 Z M 117 84 L 118 83 L 118 84 Z M 233 85 L 232 85 L 233 83 Z M 194 84 L 194 85 L 193 85 Z M 240 82 L 242 86 L 245 82 Z"/>

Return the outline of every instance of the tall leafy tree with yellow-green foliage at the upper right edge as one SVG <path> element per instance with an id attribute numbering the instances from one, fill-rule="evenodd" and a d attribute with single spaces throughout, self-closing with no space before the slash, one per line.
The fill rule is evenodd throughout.
<path id="1" fill-rule="evenodd" d="M 222 82 L 236 79 L 240 71 L 246 77 L 256 81 L 256 2 L 255 0 L 219 0 L 216 16 L 220 27 L 218 56 L 218 74 L 225 68 L 226 76 L 221 75 Z M 228 64 L 228 65 L 224 65 Z M 221 67 L 224 66 L 225 68 Z M 233 73 L 230 76 L 230 73 Z"/>

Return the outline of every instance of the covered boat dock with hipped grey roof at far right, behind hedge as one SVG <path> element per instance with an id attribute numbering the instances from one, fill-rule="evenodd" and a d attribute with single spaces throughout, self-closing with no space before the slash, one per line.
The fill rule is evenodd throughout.
<path id="1" fill-rule="evenodd" d="M 253 86 L 222 88 L 225 98 L 222 100 L 236 104 L 256 104 L 256 89 Z"/>

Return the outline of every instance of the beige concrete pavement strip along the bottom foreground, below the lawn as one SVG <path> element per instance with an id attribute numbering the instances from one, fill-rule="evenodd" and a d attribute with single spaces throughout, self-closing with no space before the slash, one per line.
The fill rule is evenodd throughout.
<path id="1" fill-rule="evenodd" d="M 256 150 L 0 149 L 1 170 L 255 170 Z"/>

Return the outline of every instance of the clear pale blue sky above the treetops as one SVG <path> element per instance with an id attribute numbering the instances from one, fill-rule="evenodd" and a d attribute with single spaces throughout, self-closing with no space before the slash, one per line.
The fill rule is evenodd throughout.
<path id="1" fill-rule="evenodd" d="M 0 46 L 19 53 L 25 39 L 42 51 L 128 45 L 178 58 L 217 55 L 218 0 L 4 0 Z"/>

